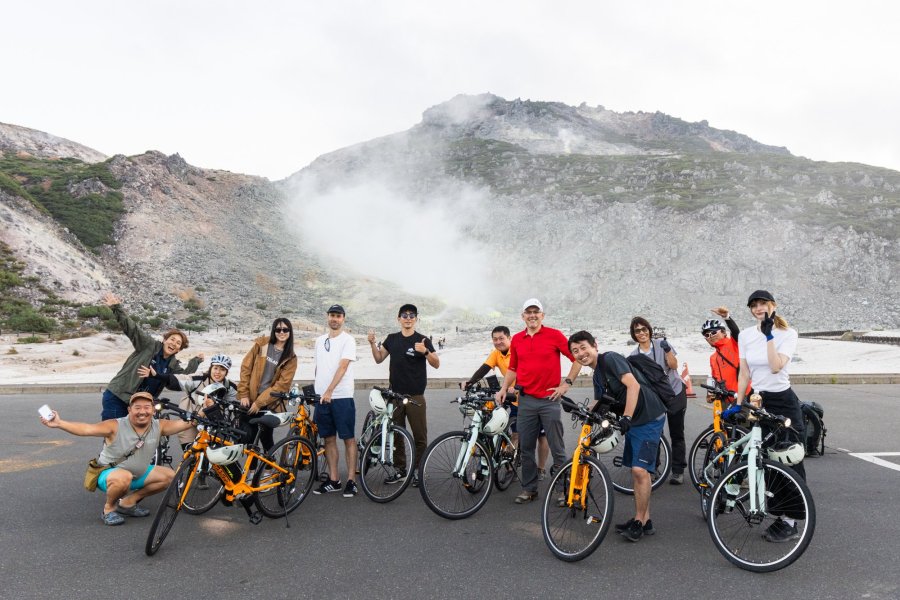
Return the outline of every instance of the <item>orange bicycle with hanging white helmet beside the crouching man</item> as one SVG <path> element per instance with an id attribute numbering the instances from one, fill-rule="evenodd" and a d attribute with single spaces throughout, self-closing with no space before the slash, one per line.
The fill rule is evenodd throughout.
<path id="1" fill-rule="evenodd" d="M 199 481 L 197 465 L 202 458 L 209 461 L 216 477 L 224 485 L 225 503 L 230 505 L 234 500 L 239 500 L 254 525 L 260 523 L 263 516 L 284 517 L 286 520 L 287 515 L 309 495 L 315 474 L 315 462 L 312 460 L 315 449 L 306 438 L 288 436 L 263 454 L 256 445 L 259 435 L 252 444 L 239 444 L 236 441 L 244 435 L 241 429 L 172 404 L 165 408 L 186 421 L 196 421 L 199 432 L 163 494 L 147 535 L 144 551 L 148 556 L 159 550 L 178 513 L 184 508 L 191 488 Z M 250 423 L 274 429 L 287 424 L 292 418 L 292 413 L 267 413 Z M 242 466 L 241 458 L 244 459 Z M 251 478 L 252 482 L 248 483 Z M 254 505 L 257 511 L 251 509 Z"/>

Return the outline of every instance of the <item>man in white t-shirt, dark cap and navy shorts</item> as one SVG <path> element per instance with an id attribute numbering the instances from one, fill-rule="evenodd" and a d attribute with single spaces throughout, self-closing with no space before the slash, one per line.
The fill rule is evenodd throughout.
<path id="1" fill-rule="evenodd" d="M 353 403 L 353 362 L 356 361 L 356 340 L 344 331 L 344 307 L 334 304 L 328 309 L 328 333 L 316 339 L 316 393 L 321 396 L 316 407 L 315 421 L 319 435 L 325 438 L 325 459 L 328 479 L 314 494 L 341 491 L 338 473 L 338 449 L 335 435 L 344 440 L 347 459 L 347 484 L 344 498 L 357 493 L 356 482 L 356 405 Z"/>

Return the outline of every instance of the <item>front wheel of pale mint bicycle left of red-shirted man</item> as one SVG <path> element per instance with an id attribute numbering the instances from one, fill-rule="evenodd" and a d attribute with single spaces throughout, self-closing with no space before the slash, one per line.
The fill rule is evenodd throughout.
<path id="1" fill-rule="evenodd" d="M 419 492 L 428 508 L 445 519 L 475 514 L 491 495 L 491 457 L 480 441 L 465 457 L 462 475 L 455 472 L 467 445 L 467 432 L 451 431 L 431 442 L 422 456 Z"/>

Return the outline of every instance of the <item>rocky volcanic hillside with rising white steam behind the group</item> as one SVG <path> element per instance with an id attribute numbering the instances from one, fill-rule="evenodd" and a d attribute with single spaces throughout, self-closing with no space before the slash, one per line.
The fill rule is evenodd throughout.
<path id="1" fill-rule="evenodd" d="M 764 287 L 803 329 L 896 328 L 898 212 L 896 171 L 492 95 L 274 183 L 0 125 L 0 291 L 61 326 L 111 288 L 153 327 L 320 323 L 334 301 L 393 326 L 411 300 L 439 331 L 516 323 L 534 295 L 567 330 L 695 328 Z"/>

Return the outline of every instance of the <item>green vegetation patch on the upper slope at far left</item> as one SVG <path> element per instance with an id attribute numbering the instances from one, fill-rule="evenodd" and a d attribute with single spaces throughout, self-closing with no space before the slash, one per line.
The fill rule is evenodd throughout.
<path id="1" fill-rule="evenodd" d="M 83 191 L 73 195 L 76 187 Z M 121 187 L 105 162 L 0 156 L 0 189 L 52 215 L 91 250 L 113 242 L 113 228 L 124 212 Z"/>

